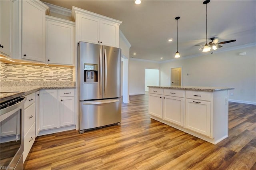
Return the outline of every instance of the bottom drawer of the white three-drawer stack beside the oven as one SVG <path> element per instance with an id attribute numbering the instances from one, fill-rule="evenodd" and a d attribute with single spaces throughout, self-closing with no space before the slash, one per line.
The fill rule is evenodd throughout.
<path id="1" fill-rule="evenodd" d="M 23 152 L 23 163 L 25 162 L 28 153 L 36 139 L 36 127 L 35 123 L 30 127 L 28 133 L 24 136 L 24 152 Z"/>

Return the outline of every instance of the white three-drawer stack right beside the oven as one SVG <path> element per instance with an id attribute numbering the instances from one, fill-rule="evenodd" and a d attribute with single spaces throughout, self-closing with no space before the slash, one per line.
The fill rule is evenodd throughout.
<path id="1" fill-rule="evenodd" d="M 35 93 L 26 96 L 24 111 L 24 152 L 23 162 L 25 162 L 30 148 L 32 147 L 36 138 L 35 127 Z"/>

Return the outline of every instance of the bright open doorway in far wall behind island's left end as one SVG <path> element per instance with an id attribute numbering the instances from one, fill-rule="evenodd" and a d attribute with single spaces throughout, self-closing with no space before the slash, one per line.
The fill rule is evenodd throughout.
<path id="1" fill-rule="evenodd" d="M 145 91 L 148 91 L 149 86 L 159 86 L 159 70 L 145 69 Z"/>

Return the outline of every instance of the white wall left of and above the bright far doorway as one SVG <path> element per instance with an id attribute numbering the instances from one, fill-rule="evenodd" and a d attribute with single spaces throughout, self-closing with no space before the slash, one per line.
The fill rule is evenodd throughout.
<path id="1" fill-rule="evenodd" d="M 145 94 L 145 69 L 160 69 L 160 63 L 130 58 L 130 95 Z"/>

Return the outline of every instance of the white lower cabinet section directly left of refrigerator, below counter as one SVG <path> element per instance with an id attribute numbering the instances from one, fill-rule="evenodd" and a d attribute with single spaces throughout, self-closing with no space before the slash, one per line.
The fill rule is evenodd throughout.
<path id="1" fill-rule="evenodd" d="M 40 90 L 40 130 L 75 124 L 74 89 Z"/>

